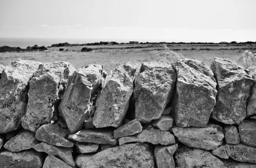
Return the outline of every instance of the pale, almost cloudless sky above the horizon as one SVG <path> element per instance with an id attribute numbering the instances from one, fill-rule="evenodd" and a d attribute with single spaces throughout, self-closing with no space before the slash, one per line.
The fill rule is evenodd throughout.
<path id="1" fill-rule="evenodd" d="M 256 41 L 255 7 L 256 0 L 1 0 L 0 38 Z"/>

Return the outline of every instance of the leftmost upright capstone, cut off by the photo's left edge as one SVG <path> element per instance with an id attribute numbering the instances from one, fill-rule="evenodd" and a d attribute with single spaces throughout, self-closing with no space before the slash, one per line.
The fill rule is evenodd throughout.
<path id="1" fill-rule="evenodd" d="M 0 133 L 21 127 L 20 118 L 26 113 L 29 80 L 40 62 L 15 61 L 5 67 L 0 80 Z"/>

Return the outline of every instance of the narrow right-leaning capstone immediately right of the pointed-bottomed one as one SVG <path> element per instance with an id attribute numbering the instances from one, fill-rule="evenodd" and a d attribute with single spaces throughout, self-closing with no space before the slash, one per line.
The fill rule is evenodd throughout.
<path id="1" fill-rule="evenodd" d="M 134 89 L 135 72 L 136 65 L 130 62 L 116 67 L 96 105 L 93 117 L 93 125 L 96 128 L 122 125 Z"/>

